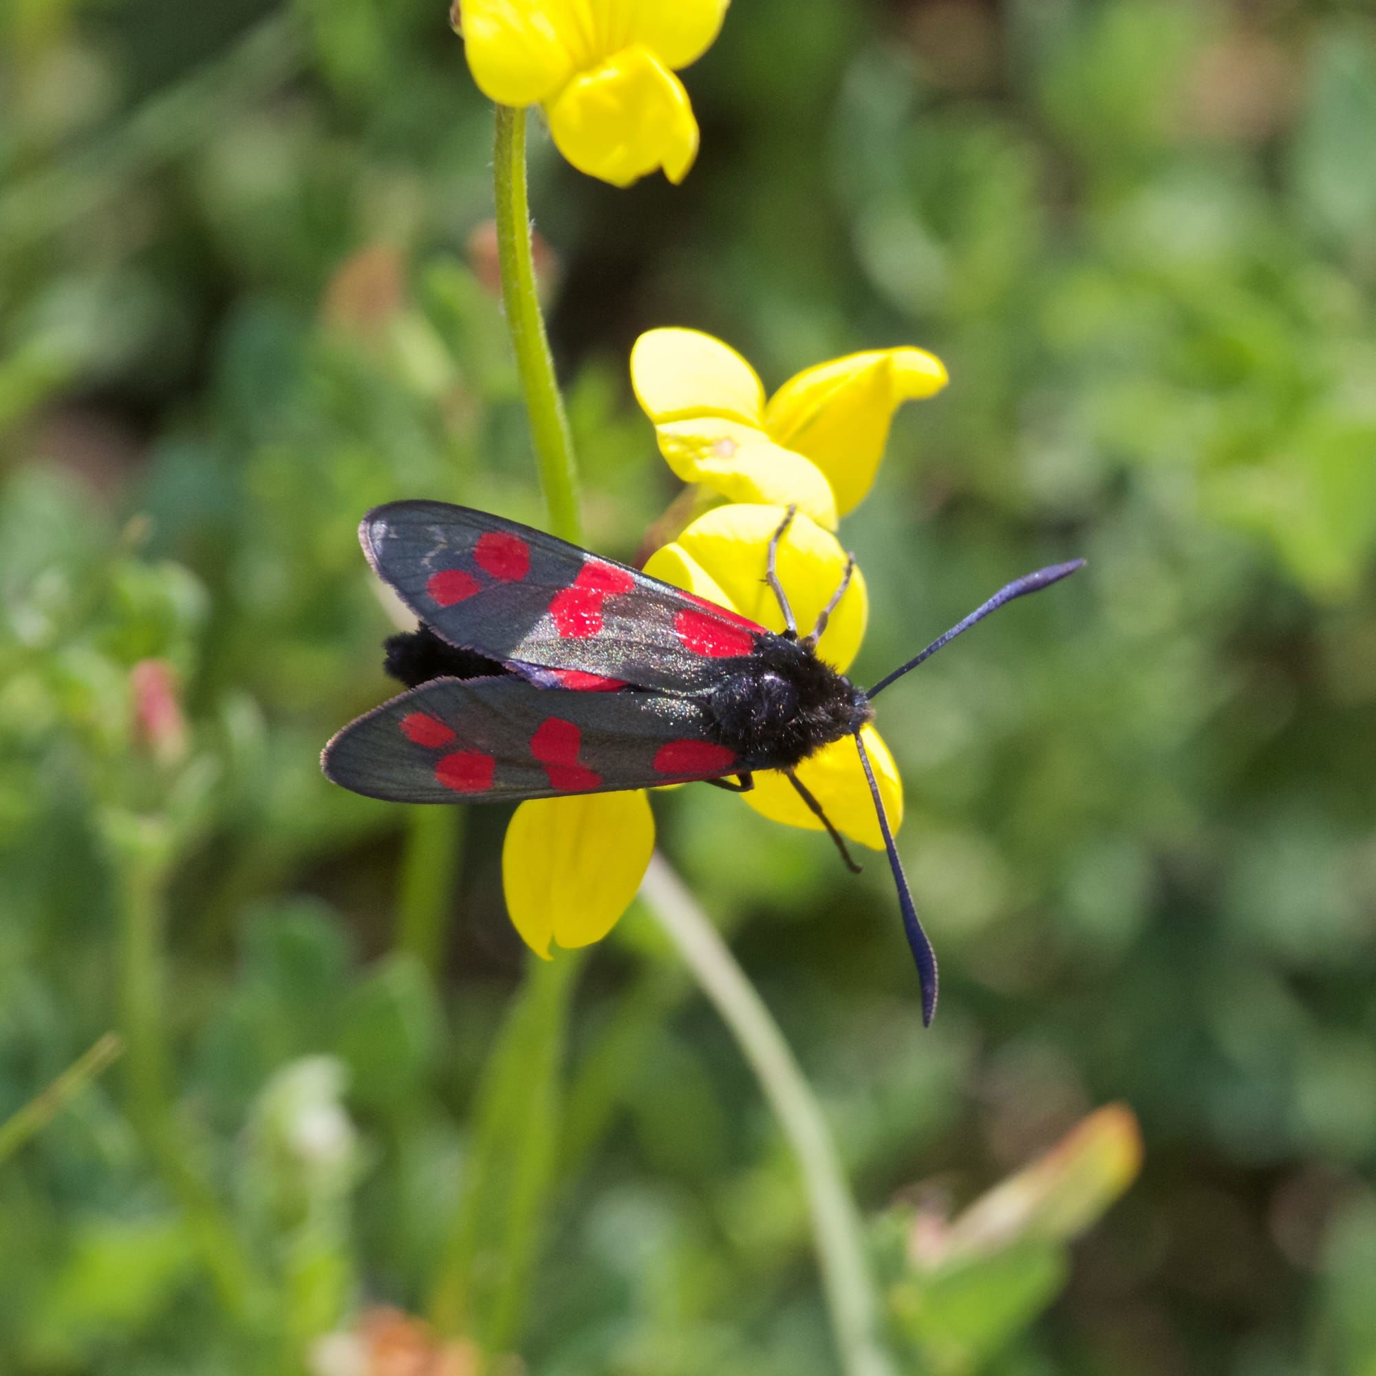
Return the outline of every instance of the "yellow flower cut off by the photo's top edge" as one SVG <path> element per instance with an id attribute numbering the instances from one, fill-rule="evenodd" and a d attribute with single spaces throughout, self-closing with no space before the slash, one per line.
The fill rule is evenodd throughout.
<path id="1" fill-rule="evenodd" d="M 698 121 L 674 72 L 707 51 L 729 0 L 462 0 L 468 65 L 499 105 L 544 105 L 559 151 L 630 186 L 681 182 Z"/>

